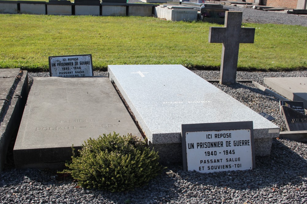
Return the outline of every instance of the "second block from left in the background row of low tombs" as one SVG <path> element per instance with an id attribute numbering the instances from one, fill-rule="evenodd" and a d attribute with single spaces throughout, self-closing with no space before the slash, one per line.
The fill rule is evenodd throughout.
<path id="1" fill-rule="evenodd" d="M 20 13 L 46 14 L 46 2 L 18 1 Z"/>

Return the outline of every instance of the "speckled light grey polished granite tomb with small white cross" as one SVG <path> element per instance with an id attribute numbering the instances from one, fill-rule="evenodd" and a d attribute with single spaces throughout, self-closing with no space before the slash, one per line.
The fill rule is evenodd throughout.
<path id="1" fill-rule="evenodd" d="M 270 154 L 279 127 L 182 65 L 109 65 L 149 144 L 180 162 L 181 124 L 253 121 L 256 155 Z"/>

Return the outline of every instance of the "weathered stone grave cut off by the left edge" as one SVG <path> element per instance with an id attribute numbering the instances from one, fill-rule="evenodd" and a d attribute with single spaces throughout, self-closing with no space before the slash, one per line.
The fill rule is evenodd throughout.
<path id="1" fill-rule="evenodd" d="M 0 172 L 8 146 L 17 135 L 27 96 L 27 71 L 0 69 Z"/>

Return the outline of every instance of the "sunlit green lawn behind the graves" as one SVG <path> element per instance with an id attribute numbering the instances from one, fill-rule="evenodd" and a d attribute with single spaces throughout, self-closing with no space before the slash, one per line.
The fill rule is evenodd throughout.
<path id="1" fill-rule="evenodd" d="M 92 54 L 94 69 L 107 65 L 181 64 L 219 69 L 222 44 L 208 43 L 204 22 L 153 17 L 0 14 L 0 68 L 47 70 L 48 56 Z M 239 70 L 307 68 L 302 26 L 244 24 L 257 28 L 254 44 L 240 44 Z"/>

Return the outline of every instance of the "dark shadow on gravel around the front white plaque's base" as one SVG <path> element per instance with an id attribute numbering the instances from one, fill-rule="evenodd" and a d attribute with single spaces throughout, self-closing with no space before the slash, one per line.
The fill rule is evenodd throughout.
<path id="1" fill-rule="evenodd" d="M 203 186 L 227 187 L 235 190 L 256 190 L 265 187 L 276 187 L 301 184 L 307 177 L 307 161 L 286 147 L 278 140 L 273 140 L 271 154 L 256 157 L 256 169 L 247 171 L 227 171 L 202 174 L 192 172 L 192 177 L 185 179 L 186 172 L 178 171 L 178 175 L 187 182 Z M 191 172 L 190 172 L 191 174 Z M 276 185 L 275 185 L 276 184 Z"/>

